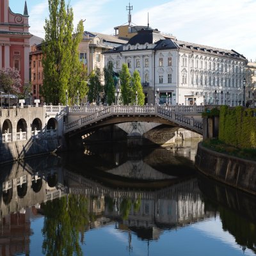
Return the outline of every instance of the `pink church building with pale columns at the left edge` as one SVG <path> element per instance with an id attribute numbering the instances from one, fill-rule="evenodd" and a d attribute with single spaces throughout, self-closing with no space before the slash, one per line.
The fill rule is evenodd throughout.
<path id="1" fill-rule="evenodd" d="M 15 67 L 20 71 L 22 85 L 29 83 L 28 8 L 24 13 L 13 13 L 8 0 L 0 0 L 0 67 Z"/>

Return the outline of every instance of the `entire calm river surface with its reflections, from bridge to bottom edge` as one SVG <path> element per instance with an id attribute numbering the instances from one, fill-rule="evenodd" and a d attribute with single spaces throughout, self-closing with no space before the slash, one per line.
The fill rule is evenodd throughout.
<path id="1" fill-rule="evenodd" d="M 196 145 L 1 166 L 0 255 L 255 255 L 255 197 L 198 175 Z"/>

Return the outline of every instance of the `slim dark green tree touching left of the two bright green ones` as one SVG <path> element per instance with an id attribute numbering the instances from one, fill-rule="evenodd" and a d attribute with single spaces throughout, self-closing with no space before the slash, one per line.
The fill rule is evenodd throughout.
<path id="1" fill-rule="evenodd" d="M 113 63 L 109 61 L 107 67 L 104 67 L 104 94 L 106 95 L 106 102 L 111 105 L 115 102 L 115 81 L 113 78 Z"/>

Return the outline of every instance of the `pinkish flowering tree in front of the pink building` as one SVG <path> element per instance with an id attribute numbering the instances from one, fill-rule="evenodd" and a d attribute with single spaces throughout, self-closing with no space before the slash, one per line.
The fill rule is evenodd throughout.
<path id="1" fill-rule="evenodd" d="M 0 68 L 0 90 L 5 93 L 20 93 L 21 79 L 19 70 L 16 68 Z"/>

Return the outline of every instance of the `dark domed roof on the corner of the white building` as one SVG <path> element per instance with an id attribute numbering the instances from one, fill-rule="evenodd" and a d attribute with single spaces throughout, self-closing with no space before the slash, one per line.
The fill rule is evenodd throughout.
<path id="1" fill-rule="evenodd" d="M 155 44 L 159 40 L 164 40 L 164 37 L 159 33 L 159 31 L 153 29 L 141 29 L 138 34 L 132 36 L 128 44 Z"/>

